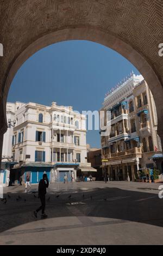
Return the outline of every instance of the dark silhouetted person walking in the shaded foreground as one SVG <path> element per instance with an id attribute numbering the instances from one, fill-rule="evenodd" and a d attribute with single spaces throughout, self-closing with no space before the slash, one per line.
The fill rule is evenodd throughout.
<path id="1" fill-rule="evenodd" d="M 42 210 L 41 212 L 41 218 L 47 218 L 47 215 L 45 214 L 45 206 L 46 206 L 46 200 L 45 200 L 45 195 L 46 195 L 46 188 L 49 186 L 49 181 L 47 174 L 43 174 L 42 179 L 39 182 L 39 198 L 41 201 L 41 206 L 34 211 L 34 216 L 37 218 L 37 213 Z"/>

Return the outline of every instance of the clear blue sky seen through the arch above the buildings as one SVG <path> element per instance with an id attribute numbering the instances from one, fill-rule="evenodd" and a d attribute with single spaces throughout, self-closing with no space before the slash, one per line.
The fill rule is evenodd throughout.
<path id="1" fill-rule="evenodd" d="M 105 93 L 137 69 L 117 52 L 91 41 L 62 41 L 36 52 L 23 63 L 12 81 L 9 102 L 36 102 L 98 110 Z M 100 147 L 97 130 L 87 132 L 87 143 Z"/>

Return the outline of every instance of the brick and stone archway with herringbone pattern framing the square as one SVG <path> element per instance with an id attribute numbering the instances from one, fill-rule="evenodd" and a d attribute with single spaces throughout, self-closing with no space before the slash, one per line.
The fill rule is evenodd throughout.
<path id="1" fill-rule="evenodd" d="M 42 47 L 62 40 L 91 40 L 126 57 L 146 79 L 158 112 L 163 145 L 163 4 L 159 0 L 1 1 L 0 156 L 7 130 L 5 105 L 18 68 Z"/>

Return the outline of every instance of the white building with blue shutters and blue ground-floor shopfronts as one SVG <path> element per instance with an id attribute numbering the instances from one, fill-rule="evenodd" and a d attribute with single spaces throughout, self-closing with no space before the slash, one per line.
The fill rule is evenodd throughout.
<path id="1" fill-rule="evenodd" d="M 31 102 L 7 103 L 7 109 L 9 106 L 14 127 L 4 136 L 3 152 L 17 163 L 10 170 L 12 182 L 20 176 L 26 181 L 29 174 L 31 183 L 37 183 L 43 172 L 51 182 L 62 182 L 65 175 L 76 181 L 77 169 L 90 171 L 85 115 L 55 102 L 51 106 Z"/>

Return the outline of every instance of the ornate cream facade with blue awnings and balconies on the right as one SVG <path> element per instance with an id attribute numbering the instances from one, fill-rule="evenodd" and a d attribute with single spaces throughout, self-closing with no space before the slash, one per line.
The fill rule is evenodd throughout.
<path id="1" fill-rule="evenodd" d="M 141 75 L 131 74 L 103 105 L 111 111 L 111 132 L 101 136 L 102 158 L 108 159 L 103 168 L 112 180 L 134 181 L 139 169 L 154 167 L 151 157 L 161 151 L 152 93 Z"/>

